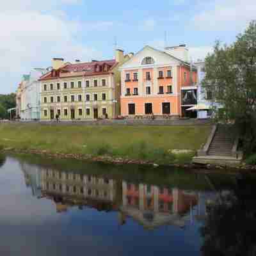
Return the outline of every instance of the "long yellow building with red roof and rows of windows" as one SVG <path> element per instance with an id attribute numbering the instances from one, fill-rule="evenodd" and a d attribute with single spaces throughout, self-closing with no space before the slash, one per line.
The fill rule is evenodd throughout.
<path id="1" fill-rule="evenodd" d="M 115 51 L 115 60 L 65 63 L 52 60 L 52 70 L 40 77 L 41 120 L 90 120 L 120 115 L 120 72 L 131 58 Z"/>

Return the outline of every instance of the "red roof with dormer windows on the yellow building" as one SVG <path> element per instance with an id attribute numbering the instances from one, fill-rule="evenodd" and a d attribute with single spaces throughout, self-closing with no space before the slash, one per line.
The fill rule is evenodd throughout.
<path id="1" fill-rule="evenodd" d="M 99 76 L 110 74 L 111 68 L 115 67 L 115 60 L 92 61 L 84 63 L 66 63 L 58 70 L 52 70 L 40 77 L 40 81 L 76 76 Z"/>

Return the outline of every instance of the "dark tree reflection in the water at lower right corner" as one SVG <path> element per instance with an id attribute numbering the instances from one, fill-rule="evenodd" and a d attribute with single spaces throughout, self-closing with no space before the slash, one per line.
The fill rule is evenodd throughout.
<path id="1" fill-rule="evenodd" d="M 255 192 L 255 179 L 237 176 L 232 192 L 221 193 L 209 207 L 209 216 L 201 229 L 203 255 L 256 255 Z"/>

